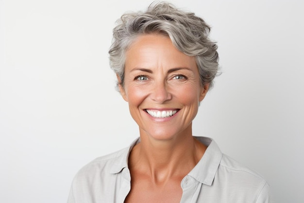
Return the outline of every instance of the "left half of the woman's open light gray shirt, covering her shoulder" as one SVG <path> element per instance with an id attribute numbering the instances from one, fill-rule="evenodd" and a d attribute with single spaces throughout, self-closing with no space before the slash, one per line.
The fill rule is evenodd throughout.
<path id="1" fill-rule="evenodd" d="M 128 154 L 129 148 L 124 148 L 83 166 L 73 179 L 68 202 L 114 202 L 114 191 L 121 182 L 121 171 L 127 167 Z"/>

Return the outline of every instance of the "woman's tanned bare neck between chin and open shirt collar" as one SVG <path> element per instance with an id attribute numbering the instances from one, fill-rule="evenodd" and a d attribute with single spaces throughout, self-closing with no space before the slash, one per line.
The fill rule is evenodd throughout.
<path id="1" fill-rule="evenodd" d="M 146 173 L 155 182 L 183 178 L 202 158 L 206 146 L 186 129 L 169 140 L 157 140 L 141 132 L 141 141 L 130 155 L 130 169 Z"/>

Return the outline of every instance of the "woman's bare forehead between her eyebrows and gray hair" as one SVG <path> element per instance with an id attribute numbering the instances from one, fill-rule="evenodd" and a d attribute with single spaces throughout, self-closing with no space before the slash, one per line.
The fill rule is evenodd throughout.
<path id="1" fill-rule="evenodd" d="M 143 35 L 136 38 L 126 52 L 128 67 L 196 67 L 194 56 L 179 51 L 167 36 L 159 34 Z M 151 67 L 150 67 L 151 66 Z"/>

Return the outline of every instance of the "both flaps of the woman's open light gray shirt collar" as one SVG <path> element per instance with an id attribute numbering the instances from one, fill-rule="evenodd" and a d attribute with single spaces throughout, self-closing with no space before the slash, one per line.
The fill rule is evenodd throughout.
<path id="1" fill-rule="evenodd" d="M 222 152 L 213 139 L 208 137 L 195 137 L 201 143 L 207 146 L 205 153 L 199 163 L 189 172 L 189 176 L 193 177 L 197 181 L 205 184 L 212 185 L 215 174 L 220 165 L 222 158 Z M 132 148 L 140 142 L 140 138 L 137 138 L 128 147 L 120 150 L 116 157 L 112 161 L 112 167 L 110 173 L 115 174 L 122 171 L 123 168 L 128 167 L 128 158 Z"/>

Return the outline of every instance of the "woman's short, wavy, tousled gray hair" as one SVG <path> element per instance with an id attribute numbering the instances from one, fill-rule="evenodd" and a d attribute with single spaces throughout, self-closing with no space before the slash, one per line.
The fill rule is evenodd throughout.
<path id="1" fill-rule="evenodd" d="M 194 13 L 177 9 L 167 2 L 154 1 L 145 12 L 125 13 L 113 29 L 109 50 L 110 67 L 124 85 L 125 53 L 137 37 L 145 34 L 169 36 L 172 44 L 182 53 L 195 56 L 201 85 L 213 86 L 219 69 L 218 46 L 208 37 L 210 26 Z"/>

